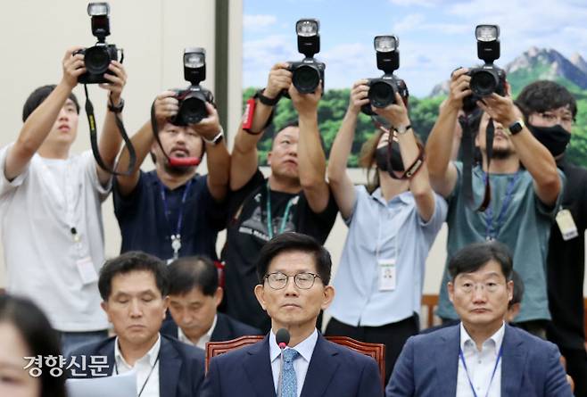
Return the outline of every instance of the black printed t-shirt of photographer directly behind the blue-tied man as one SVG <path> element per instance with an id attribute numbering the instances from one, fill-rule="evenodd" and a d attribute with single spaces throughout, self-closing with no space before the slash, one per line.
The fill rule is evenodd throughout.
<path id="1" fill-rule="evenodd" d="M 270 239 L 267 183 L 267 179 L 257 170 L 245 186 L 230 194 L 227 244 L 222 251 L 222 259 L 226 262 L 227 314 L 263 332 L 269 330 L 270 320 L 260 308 L 253 289 L 259 284 L 256 266 L 260 249 Z M 288 194 L 271 190 L 270 199 L 275 236 L 284 224 L 284 213 L 288 203 L 291 203 L 283 232 L 303 233 L 324 244 L 338 212 L 333 194 L 330 194 L 327 208 L 318 214 L 310 209 L 303 192 Z"/>

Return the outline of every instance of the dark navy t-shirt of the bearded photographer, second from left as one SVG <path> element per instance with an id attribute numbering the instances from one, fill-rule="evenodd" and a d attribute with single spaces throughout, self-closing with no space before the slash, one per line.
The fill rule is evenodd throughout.
<path id="1" fill-rule="evenodd" d="M 164 189 L 167 217 L 161 189 Z M 114 213 L 122 235 L 120 252 L 138 250 L 162 260 L 173 258 L 170 236 L 177 233 L 183 208 L 179 256 L 201 254 L 218 259 L 216 237 L 226 225 L 226 203 L 217 203 L 211 196 L 206 176 L 196 175 L 186 185 L 169 190 L 154 170 L 141 171 L 130 194 L 120 195 L 116 182 L 113 191 Z M 186 201 L 182 204 L 184 194 Z"/>

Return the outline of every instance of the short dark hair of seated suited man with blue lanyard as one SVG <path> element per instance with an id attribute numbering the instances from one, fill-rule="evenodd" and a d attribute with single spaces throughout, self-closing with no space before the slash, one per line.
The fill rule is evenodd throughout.
<path id="1" fill-rule="evenodd" d="M 513 264 L 508 246 L 492 240 L 469 244 L 455 253 L 449 261 L 451 281 L 454 281 L 459 274 L 473 273 L 483 268 L 489 261 L 498 262 L 506 280 L 511 278 Z"/>

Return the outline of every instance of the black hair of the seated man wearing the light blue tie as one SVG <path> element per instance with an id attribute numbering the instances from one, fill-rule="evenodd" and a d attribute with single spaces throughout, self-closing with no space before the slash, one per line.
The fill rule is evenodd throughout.
<path id="1" fill-rule="evenodd" d="M 330 252 L 327 251 L 314 237 L 302 235 L 302 233 L 286 232 L 269 240 L 260 250 L 259 261 L 257 261 L 257 277 L 259 283 L 263 284 L 263 278 L 267 274 L 269 264 L 273 259 L 283 252 L 307 252 L 314 257 L 316 271 L 324 285 L 330 282 L 330 270 L 332 260 Z"/>

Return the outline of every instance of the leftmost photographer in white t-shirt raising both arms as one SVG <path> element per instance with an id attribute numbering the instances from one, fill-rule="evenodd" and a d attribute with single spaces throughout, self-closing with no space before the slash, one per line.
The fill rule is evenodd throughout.
<path id="1" fill-rule="evenodd" d="M 37 88 L 24 104 L 21 133 L 0 151 L 0 213 L 7 289 L 26 295 L 62 333 L 63 351 L 105 337 L 97 272 L 104 261 L 101 204 L 111 174 L 91 151 L 70 154 L 78 134 L 79 104 L 72 89 L 85 73 L 81 47 L 67 50 L 62 80 Z M 122 110 L 127 79 L 120 62 L 109 63 L 100 87 L 109 91 L 108 112 L 99 139 L 105 164 L 120 150 L 115 112 Z"/>

